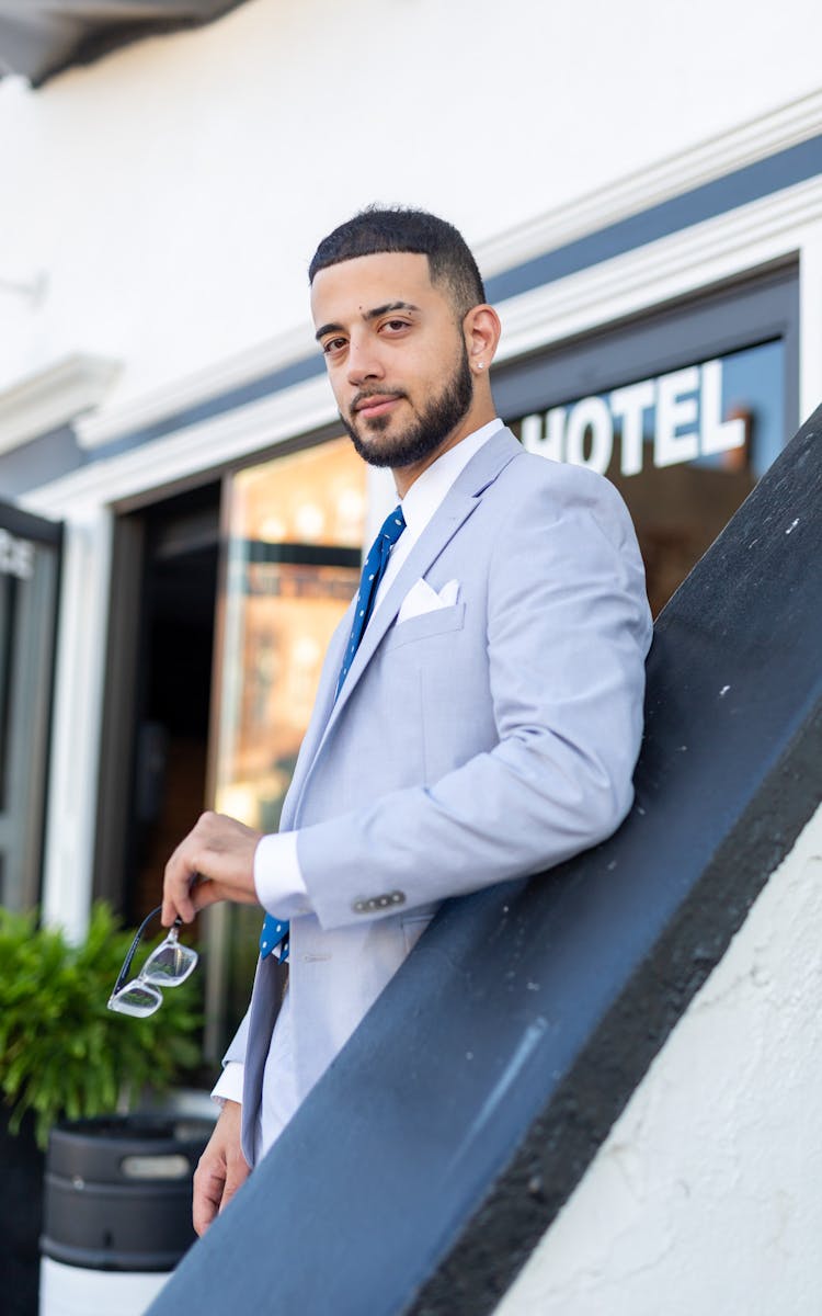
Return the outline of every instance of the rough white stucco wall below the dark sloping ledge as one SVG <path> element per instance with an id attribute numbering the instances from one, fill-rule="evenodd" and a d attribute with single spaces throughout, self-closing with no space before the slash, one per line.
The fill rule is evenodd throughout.
<path id="1" fill-rule="evenodd" d="M 822 1312 L 822 809 L 496 1316 Z"/>

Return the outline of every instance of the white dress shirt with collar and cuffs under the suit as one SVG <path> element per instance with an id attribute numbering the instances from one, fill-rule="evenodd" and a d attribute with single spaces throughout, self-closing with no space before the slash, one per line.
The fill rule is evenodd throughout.
<path id="1" fill-rule="evenodd" d="M 442 504 L 456 476 L 475 453 L 501 428 L 501 420 L 492 420 L 468 434 L 442 457 L 438 457 L 408 490 L 401 500 L 405 529 L 392 549 L 376 592 L 374 612 L 379 609 L 392 580 Z M 254 855 L 254 886 L 263 908 L 276 919 L 295 919 L 312 912 L 297 859 L 296 832 L 280 832 L 262 837 Z M 287 992 L 266 1061 L 263 1103 L 256 1130 L 256 1158 L 266 1154 L 299 1104 L 296 1092 L 291 1091 L 293 1083 L 289 1083 L 289 1075 L 293 1073 L 289 1063 L 291 1050 L 292 1028 Z M 242 1100 L 242 1065 L 237 1062 L 226 1065 L 212 1096 L 217 1100 Z"/>

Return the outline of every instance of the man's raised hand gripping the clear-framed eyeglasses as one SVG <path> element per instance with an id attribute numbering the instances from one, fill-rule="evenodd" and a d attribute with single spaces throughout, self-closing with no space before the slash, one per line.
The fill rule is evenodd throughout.
<path id="1" fill-rule="evenodd" d="M 259 904 L 254 851 L 260 834 L 224 813 L 204 813 L 166 865 L 164 926 L 170 928 L 178 915 L 183 923 L 191 923 L 200 909 L 217 900 Z"/>

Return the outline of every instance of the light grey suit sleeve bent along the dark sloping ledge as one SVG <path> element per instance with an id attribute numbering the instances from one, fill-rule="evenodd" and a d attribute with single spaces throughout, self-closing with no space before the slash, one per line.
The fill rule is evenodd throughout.
<path id="1" fill-rule="evenodd" d="M 430 786 L 297 832 L 324 928 L 539 873 L 625 817 L 651 621 L 625 505 L 588 475 L 559 476 L 572 492 L 560 511 L 555 492 L 534 482 L 491 554 L 497 744 Z M 381 896 L 392 903 L 381 907 Z"/>

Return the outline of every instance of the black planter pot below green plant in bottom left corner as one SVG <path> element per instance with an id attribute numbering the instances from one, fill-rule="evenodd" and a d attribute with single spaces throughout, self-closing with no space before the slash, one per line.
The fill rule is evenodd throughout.
<path id="1" fill-rule="evenodd" d="M 34 1141 L 34 1120 L 28 1116 L 12 1134 L 4 1107 L 0 1167 L 0 1309 L 4 1316 L 37 1316 L 45 1155 Z"/>

